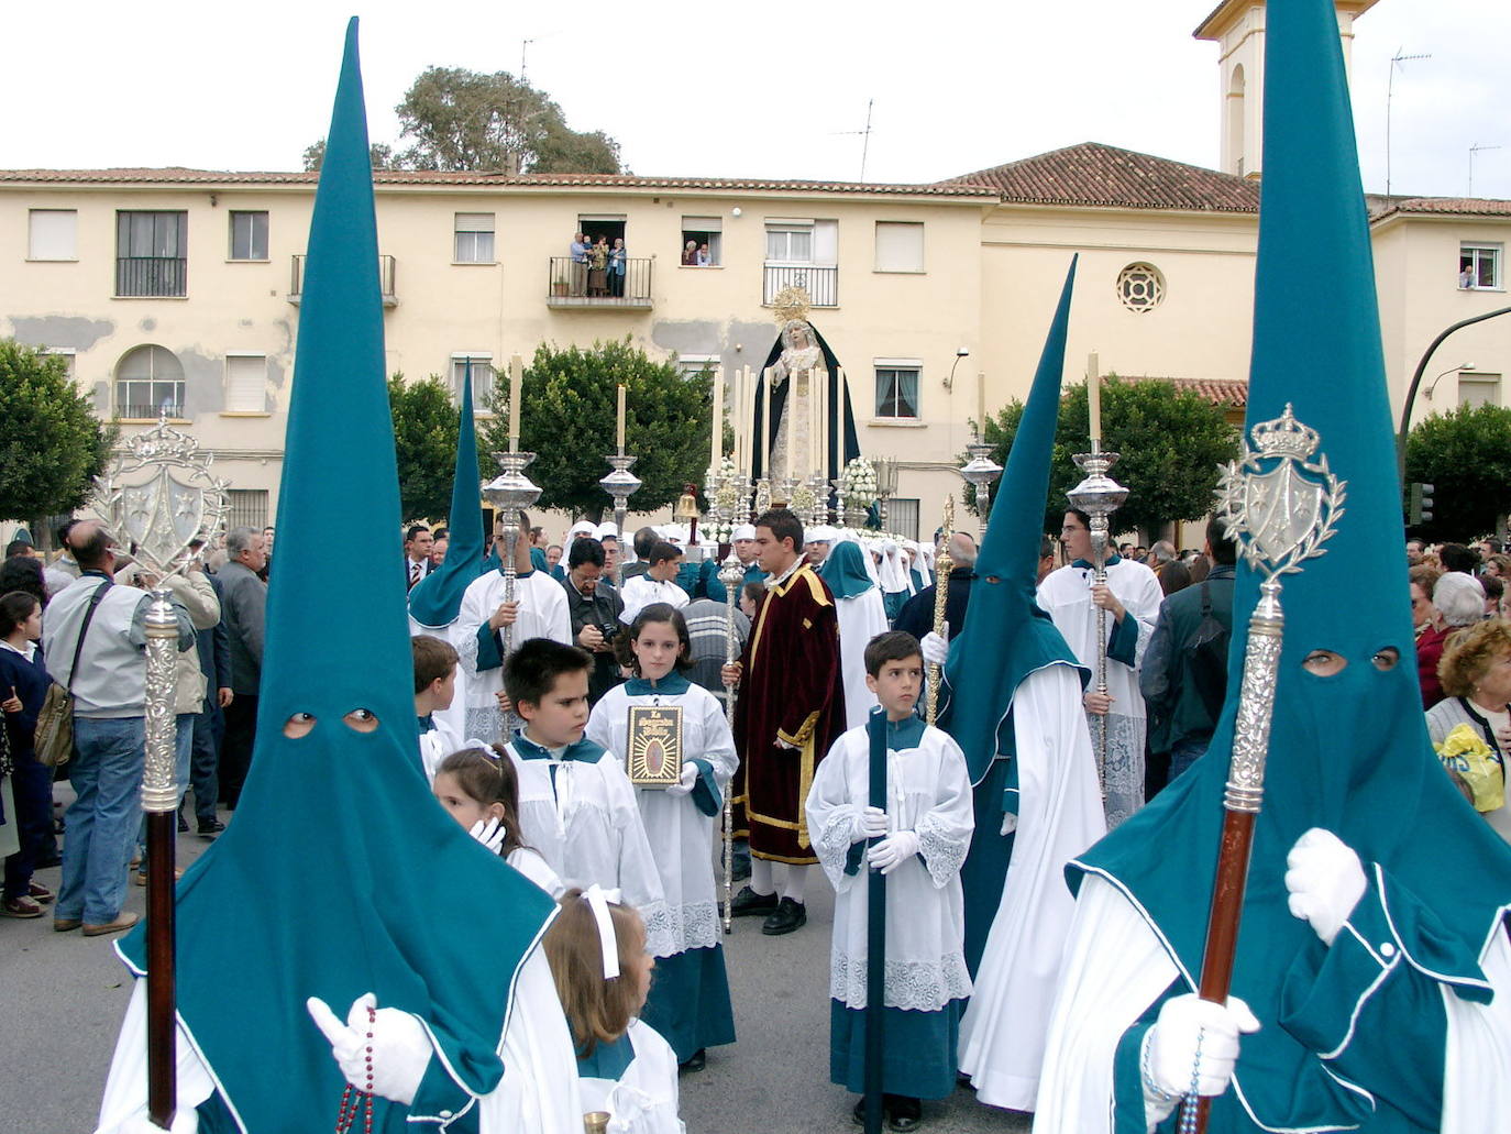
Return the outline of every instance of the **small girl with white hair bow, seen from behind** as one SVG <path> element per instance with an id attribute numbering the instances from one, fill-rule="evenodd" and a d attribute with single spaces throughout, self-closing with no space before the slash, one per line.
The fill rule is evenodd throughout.
<path id="1" fill-rule="evenodd" d="M 677 1117 L 677 1057 L 638 1019 L 656 959 L 645 924 L 591 886 L 561 898 L 545 931 L 545 957 L 577 1048 L 585 1113 L 609 1116 L 610 1134 L 684 1134 Z"/>

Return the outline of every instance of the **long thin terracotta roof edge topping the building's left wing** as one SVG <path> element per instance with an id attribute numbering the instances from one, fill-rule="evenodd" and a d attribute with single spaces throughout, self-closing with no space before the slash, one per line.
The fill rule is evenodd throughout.
<path id="1" fill-rule="evenodd" d="M 50 184 L 313 184 L 313 172 L 248 172 L 219 169 L 0 169 L 0 183 L 42 181 Z M 450 184 L 500 187 L 606 187 L 606 189 L 713 189 L 802 194 L 884 194 L 893 197 L 994 197 L 990 186 L 955 183 L 882 184 L 863 181 L 799 181 L 731 177 L 633 177 L 630 174 L 493 174 L 379 169 L 382 184 Z"/>

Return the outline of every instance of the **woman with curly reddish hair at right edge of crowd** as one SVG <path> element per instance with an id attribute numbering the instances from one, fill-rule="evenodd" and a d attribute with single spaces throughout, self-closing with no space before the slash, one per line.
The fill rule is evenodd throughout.
<path id="1" fill-rule="evenodd" d="M 1511 624 L 1500 618 L 1479 621 L 1449 638 L 1438 664 L 1445 700 L 1428 709 L 1426 730 L 1441 745 L 1460 724 L 1481 736 L 1505 783 L 1505 759 L 1511 751 Z M 1490 826 L 1511 842 L 1511 795 L 1485 812 Z"/>

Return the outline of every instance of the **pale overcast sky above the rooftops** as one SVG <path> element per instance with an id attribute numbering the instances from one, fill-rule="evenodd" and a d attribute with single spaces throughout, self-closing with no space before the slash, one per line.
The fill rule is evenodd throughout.
<path id="1" fill-rule="evenodd" d="M 0 0 L 0 168 L 296 169 L 325 133 L 345 18 L 363 17 L 373 141 L 429 65 L 520 68 L 636 174 L 932 181 L 1098 141 L 1218 160 L 1215 0 L 925 5 Z M 1511 3 L 1380 0 L 1358 20 L 1364 187 L 1511 198 Z"/>

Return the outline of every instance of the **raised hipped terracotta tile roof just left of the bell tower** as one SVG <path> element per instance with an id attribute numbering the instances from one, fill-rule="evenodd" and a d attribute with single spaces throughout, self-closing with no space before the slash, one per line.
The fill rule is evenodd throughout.
<path id="1" fill-rule="evenodd" d="M 1100 142 L 1024 157 L 941 184 L 990 186 L 1003 201 L 1023 204 L 1259 212 L 1257 181 Z"/>

